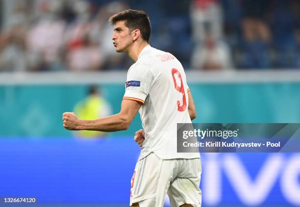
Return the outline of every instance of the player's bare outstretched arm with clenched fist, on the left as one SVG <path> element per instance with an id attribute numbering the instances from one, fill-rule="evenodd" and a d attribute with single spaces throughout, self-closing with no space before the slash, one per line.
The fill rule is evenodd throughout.
<path id="1" fill-rule="evenodd" d="M 74 113 L 63 113 L 64 128 L 69 130 L 120 131 L 128 129 L 142 103 L 123 100 L 118 114 L 96 120 L 80 120 Z"/>

